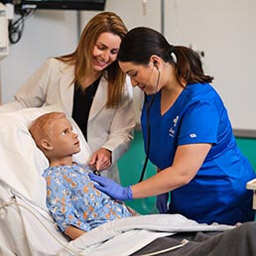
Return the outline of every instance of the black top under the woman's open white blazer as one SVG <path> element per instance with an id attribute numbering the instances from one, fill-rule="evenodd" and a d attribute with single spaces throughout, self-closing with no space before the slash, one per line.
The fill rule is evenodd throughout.
<path id="1" fill-rule="evenodd" d="M 85 90 L 74 84 L 72 118 L 80 128 L 87 141 L 87 123 L 93 97 L 96 93 L 100 77 L 90 84 Z"/>

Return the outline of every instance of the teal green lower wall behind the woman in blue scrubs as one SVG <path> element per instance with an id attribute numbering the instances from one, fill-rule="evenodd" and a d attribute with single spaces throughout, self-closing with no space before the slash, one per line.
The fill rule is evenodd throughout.
<path id="1" fill-rule="evenodd" d="M 256 139 L 237 138 L 237 144 L 243 154 L 250 160 L 256 172 Z M 141 175 L 145 159 L 143 138 L 141 131 L 135 131 L 134 140 L 129 151 L 118 161 L 121 184 L 123 186 L 136 184 Z M 153 176 L 156 168 L 149 162 L 144 179 Z M 126 203 L 141 214 L 157 213 L 156 197 L 134 199 Z"/>

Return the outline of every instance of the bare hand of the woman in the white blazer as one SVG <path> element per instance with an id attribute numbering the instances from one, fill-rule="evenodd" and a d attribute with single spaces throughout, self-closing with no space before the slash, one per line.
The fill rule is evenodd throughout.
<path id="1" fill-rule="evenodd" d="M 101 148 L 93 153 L 89 164 L 97 171 L 105 170 L 111 166 L 111 155 L 111 151 Z"/>

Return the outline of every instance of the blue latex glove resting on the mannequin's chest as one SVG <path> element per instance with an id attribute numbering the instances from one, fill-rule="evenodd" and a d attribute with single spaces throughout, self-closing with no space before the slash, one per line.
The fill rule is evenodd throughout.
<path id="1" fill-rule="evenodd" d="M 94 185 L 97 190 L 107 193 L 114 199 L 129 200 L 133 198 L 131 186 L 123 188 L 108 178 L 97 176 L 92 173 L 89 174 L 89 178 L 97 183 Z"/>

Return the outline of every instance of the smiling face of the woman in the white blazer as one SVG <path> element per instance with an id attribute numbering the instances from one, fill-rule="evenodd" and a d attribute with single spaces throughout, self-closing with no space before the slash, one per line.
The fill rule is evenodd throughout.
<path id="1" fill-rule="evenodd" d="M 116 61 L 121 38 L 110 32 L 99 35 L 92 52 L 93 67 L 95 71 L 102 71 L 109 64 Z"/>

